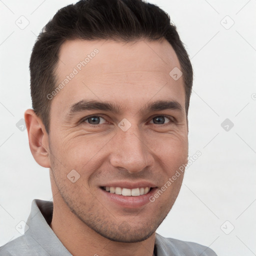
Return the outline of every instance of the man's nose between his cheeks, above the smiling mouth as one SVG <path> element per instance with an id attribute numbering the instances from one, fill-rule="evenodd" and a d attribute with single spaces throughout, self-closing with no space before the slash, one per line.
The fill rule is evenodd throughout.
<path id="1" fill-rule="evenodd" d="M 136 173 L 153 164 L 153 155 L 146 145 L 145 136 L 137 129 L 118 130 L 111 140 L 110 163 L 116 168 L 125 168 Z"/>

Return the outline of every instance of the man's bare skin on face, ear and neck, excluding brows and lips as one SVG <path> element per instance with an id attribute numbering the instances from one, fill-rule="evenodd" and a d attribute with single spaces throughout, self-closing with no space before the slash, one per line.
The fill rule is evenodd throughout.
<path id="1" fill-rule="evenodd" d="M 57 84 L 95 48 L 98 53 L 50 99 L 49 134 L 32 109 L 25 111 L 33 157 L 49 168 L 54 203 L 50 226 L 75 256 L 151 256 L 155 230 L 171 209 L 183 174 L 154 202 L 137 208 L 105 199 L 99 186 L 149 181 L 160 188 L 187 162 L 183 80 L 169 75 L 174 67 L 181 69 L 180 64 L 165 39 L 125 44 L 69 40 L 60 48 Z M 121 110 L 118 114 L 86 110 L 68 115 L 70 106 L 82 99 L 109 101 Z M 175 100 L 182 110 L 139 113 L 156 100 Z M 99 124 L 84 120 L 91 115 L 102 117 L 96 117 Z M 162 115 L 171 118 L 156 120 Z M 131 124 L 126 131 L 118 126 L 123 118 Z M 72 169 L 80 175 L 74 183 L 67 178 Z"/>

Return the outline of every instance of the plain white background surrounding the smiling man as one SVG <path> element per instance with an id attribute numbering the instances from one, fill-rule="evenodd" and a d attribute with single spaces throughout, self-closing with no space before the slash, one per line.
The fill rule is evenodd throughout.
<path id="1" fill-rule="evenodd" d="M 256 255 L 256 1 L 151 2 L 169 13 L 191 58 L 189 155 L 202 153 L 157 232 L 210 246 L 219 256 Z M 27 131 L 16 123 L 31 108 L 36 36 L 70 3 L 0 0 L 0 245 L 20 235 L 15 226 L 26 221 L 32 199 L 52 200 L 48 169 L 34 161 Z M 21 15 L 29 21 L 24 29 L 15 24 Z M 226 118 L 234 124 L 228 131 L 220 125 Z"/>

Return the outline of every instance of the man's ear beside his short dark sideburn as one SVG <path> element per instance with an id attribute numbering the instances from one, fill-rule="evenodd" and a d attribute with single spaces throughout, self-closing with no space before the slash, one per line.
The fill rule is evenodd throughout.
<path id="1" fill-rule="evenodd" d="M 33 109 L 27 109 L 24 113 L 30 151 L 35 161 L 45 167 L 50 167 L 48 134 L 41 119 Z"/>

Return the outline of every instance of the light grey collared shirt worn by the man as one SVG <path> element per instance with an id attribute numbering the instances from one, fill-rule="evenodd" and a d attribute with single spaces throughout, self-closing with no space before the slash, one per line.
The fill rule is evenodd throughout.
<path id="1" fill-rule="evenodd" d="M 0 247 L 0 256 L 72 256 L 55 235 L 49 224 L 53 203 L 32 200 L 25 233 Z M 165 238 L 155 234 L 155 256 L 216 256 L 209 247 L 194 242 Z"/>

